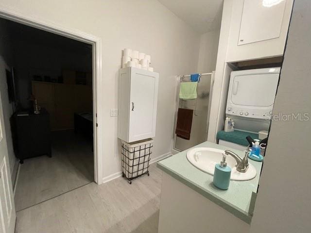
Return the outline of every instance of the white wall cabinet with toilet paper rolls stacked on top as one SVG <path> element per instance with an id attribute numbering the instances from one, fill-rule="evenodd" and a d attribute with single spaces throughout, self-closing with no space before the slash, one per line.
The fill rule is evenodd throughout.
<path id="1" fill-rule="evenodd" d="M 118 137 L 134 142 L 155 136 L 159 74 L 126 67 L 119 72 Z"/>

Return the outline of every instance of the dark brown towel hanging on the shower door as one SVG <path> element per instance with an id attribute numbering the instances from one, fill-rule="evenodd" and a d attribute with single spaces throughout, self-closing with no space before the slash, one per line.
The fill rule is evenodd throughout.
<path id="1" fill-rule="evenodd" d="M 178 108 L 175 133 L 178 137 L 189 140 L 192 125 L 192 109 Z"/>

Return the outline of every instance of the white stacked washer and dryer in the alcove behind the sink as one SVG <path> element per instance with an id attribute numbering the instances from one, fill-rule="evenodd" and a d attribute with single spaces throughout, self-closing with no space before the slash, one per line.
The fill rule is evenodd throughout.
<path id="1" fill-rule="evenodd" d="M 258 134 L 269 130 L 279 73 L 280 67 L 231 72 L 225 114 L 234 122 L 235 131 Z M 228 146 L 224 140 L 219 144 Z"/>

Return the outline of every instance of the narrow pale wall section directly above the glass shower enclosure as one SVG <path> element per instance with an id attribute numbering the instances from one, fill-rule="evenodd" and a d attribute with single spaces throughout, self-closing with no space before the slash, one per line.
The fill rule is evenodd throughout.
<path id="1" fill-rule="evenodd" d="M 220 30 L 210 31 L 200 36 L 198 73 L 209 73 L 216 68 Z"/>

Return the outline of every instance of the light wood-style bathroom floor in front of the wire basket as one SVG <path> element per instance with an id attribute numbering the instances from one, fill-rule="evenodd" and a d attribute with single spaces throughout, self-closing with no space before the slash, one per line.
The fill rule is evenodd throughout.
<path id="1" fill-rule="evenodd" d="M 17 212 L 16 233 L 157 233 L 162 172 L 90 183 Z"/>

